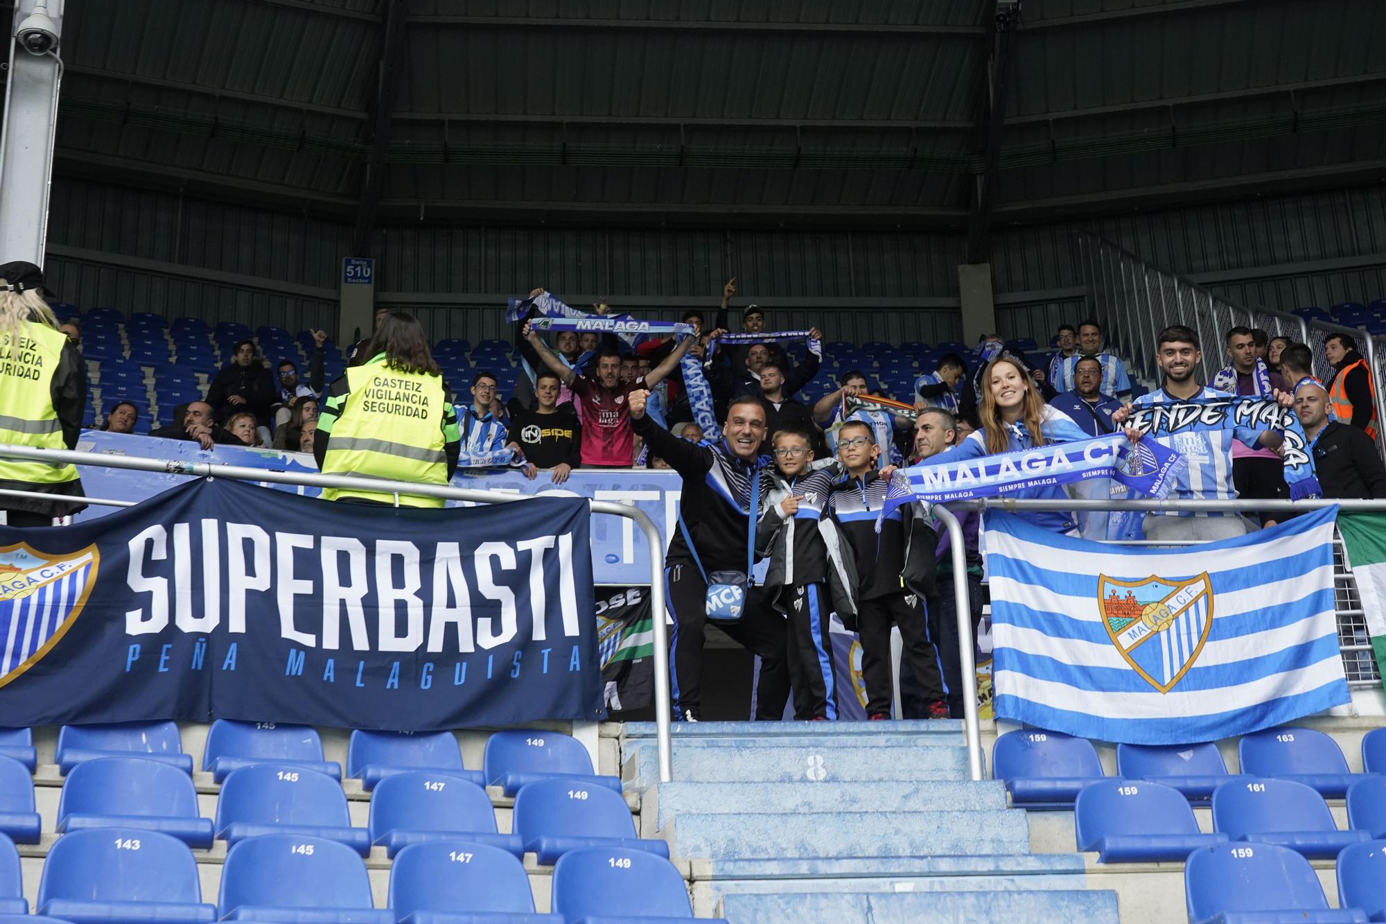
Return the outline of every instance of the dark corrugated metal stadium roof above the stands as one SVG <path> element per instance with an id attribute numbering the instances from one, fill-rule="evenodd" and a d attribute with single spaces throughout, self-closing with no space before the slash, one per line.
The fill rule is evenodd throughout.
<path id="1" fill-rule="evenodd" d="M 1378 0 L 1023 0 L 999 32 L 997 12 L 71 0 L 58 172 L 358 230 L 966 228 L 1386 178 Z"/>

